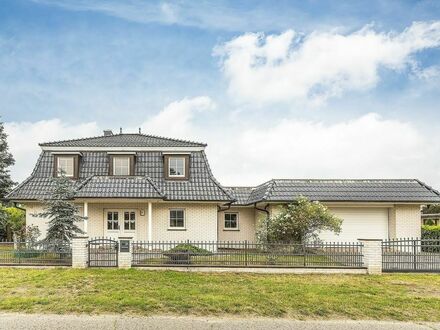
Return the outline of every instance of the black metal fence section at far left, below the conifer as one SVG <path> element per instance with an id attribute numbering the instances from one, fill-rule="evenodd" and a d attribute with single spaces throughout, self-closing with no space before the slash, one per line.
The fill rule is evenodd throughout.
<path id="1" fill-rule="evenodd" d="M 0 265 L 71 266 L 70 244 L 0 242 Z"/>

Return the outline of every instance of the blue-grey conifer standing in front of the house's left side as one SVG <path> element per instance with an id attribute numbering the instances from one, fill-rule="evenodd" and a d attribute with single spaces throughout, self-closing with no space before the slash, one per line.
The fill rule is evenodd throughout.
<path id="1" fill-rule="evenodd" d="M 75 189 L 72 181 L 65 175 L 53 179 L 54 188 L 50 198 L 43 200 L 43 212 L 35 216 L 48 218 L 46 238 L 42 243 L 63 246 L 70 242 L 75 234 L 84 233 L 76 223 L 83 221 L 78 207 L 73 203 Z"/>

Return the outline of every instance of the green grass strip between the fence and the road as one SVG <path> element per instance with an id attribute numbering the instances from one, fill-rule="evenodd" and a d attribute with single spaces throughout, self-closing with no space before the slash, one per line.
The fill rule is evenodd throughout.
<path id="1" fill-rule="evenodd" d="M 440 321 L 440 276 L 1 268 L 0 310 Z"/>

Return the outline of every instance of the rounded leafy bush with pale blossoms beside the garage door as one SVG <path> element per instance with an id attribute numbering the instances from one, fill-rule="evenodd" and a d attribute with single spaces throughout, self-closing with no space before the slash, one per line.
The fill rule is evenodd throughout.
<path id="1" fill-rule="evenodd" d="M 319 202 L 305 197 L 283 206 L 281 212 L 264 219 L 258 226 L 257 239 L 262 243 L 298 242 L 318 240 L 320 231 L 341 232 L 342 220 L 330 213 Z"/>

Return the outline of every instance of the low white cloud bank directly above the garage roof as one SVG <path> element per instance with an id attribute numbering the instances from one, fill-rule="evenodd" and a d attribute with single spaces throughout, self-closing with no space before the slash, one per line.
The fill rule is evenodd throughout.
<path id="1" fill-rule="evenodd" d="M 212 138 L 208 152 L 215 174 L 228 185 L 271 178 L 420 178 L 440 187 L 440 147 L 429 144 L 431 134 L 373 113 L 331 124 L 285 119 Z"/>

